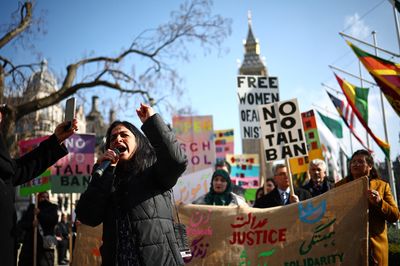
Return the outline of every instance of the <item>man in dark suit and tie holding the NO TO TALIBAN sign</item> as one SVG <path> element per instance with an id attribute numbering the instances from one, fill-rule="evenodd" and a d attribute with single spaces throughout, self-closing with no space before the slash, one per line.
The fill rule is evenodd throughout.
<path id="1" fill-rule="evenodd" d="M 302 188 L 294 188 L 294 195 L 290 195 L 289 176 L 284 164 L 275 166 L 274 180 L 276 187 L 268 194 L 257 199 L 254 203 L 255 208 L 270 208 L 311 198 L 311 194 Z"/>

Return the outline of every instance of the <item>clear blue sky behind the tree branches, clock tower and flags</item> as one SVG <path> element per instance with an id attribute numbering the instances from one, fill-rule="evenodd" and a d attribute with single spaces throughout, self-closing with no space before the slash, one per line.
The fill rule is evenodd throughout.
<path id="1" fill-rule="evenodd" d="M 35 12 L 45 13 L 44 29 L 47 34 L 34 38 L 35 49 L 46 57 L 49 68 L 56 75 L 65 73 L 67 64 L 85 55 L 115 55 L 129 46 L 132 39 L 144 29 L 167 21 L 170 12 L 177 9 L 181 2 L 36 1 Z M 9 21 L 10 13 L 15 11 L 17 4 L 18 1 L 2 1 L 1 25 Z M 375 30 L 380 47 L 399 53 L 393 9 L 387 0 L 215 0 L 213 12 L 233 20 L 232 34 L 223 44 L 227 52 L 205 56 L 200 47 L 191 45 L 191 61 L 173 62 L 173 65 L 184 78 L 186 94 L 181 102 L 191 105 L 197 115 L 212 115 L 215 129 L 234 128 L 237 153 L 241 151 L 241 141 L 235 78 L 238 64 L 243 60 L 248 10 L 252 13 L 253 32 L 259 40 L 261 56 L 269 75 L 279 78 L 280 98 L 296 97 L 301 111 L 318 106 L 328 113 L 336 112 L 321 85 L 325 83 L 339 89 L 328 65 L 353 74 L 359 73 L 357 58 L 338 32 L 344 31 L 371 43 L 371 31 Z M 363 45 L 358 46 L 373 52 Z M 37 55 L 30 50 L 15 50 L 11 46 L 1 52 L 16 63 L 35 62 L 37 59 Z M 388 58 L 382 53 L 380 55 Z M 399 58 L 394 60 L 400 62 Z M 130 68 L 129 65 L 125 67 Z M 338 74 L 359 85 L 358 80 L 340 72 Z M 362 75 L 371 80 L 365 70 Z M 98 88 L 89 95 L 102 97 L 106 93 L 111 92 Z M 370 89 L 369 102 L 370 126 L 383 139 L 379 91 L 376 87 Z M 108 114 L 107 104 L 104 106 L 102 111 Z M 390 106 L 386 105 L 385 110 L 391 156 L 394 158 L 400 153 L 400 119 Z M 86 112 L 89 112 L 88 103 Z M 131 119 L 129 112 L 133 114 L 134 110 L 118 113 L 118 118 Z M 331 116 L 334 117 L 333 114 Z M 172 120 L 168 116 L 165 119 L 169 122 Z M 357 130 L 361 136 L 365 136 L 359 125 Z M 344 134 L 343 143 L 349 148 L 348 131 Z M 354 150 L 360 148 L 355 139 L 353 146 Z M 372 149 L 376 151 L 377 158 L 383 158 L 383 153 L 375 144 Z"/>

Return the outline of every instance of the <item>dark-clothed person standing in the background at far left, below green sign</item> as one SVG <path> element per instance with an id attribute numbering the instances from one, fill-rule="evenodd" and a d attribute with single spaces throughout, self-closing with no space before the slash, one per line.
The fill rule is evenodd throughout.
<path id="1" fill-rule="evenodd" d="M 34 231 L 37 230 L 36 265 L 54 265 L 54 249 L 43 245 L 43 236 L 54 236 L 54 228 L 58 221 L 57 205 L 49 201 L 48 192 L 40 192 L 37 197 L 38 207 L 30 204 L 27 211 L 18 222 L 18 226 L 25 230 L 25 238 L 19 254 L 19 266 L 33 265 L 34 258 Z M 37 217 L 37 219 L 36 219 Z M 56 242 L 54 242 L 56 245 Z"/>

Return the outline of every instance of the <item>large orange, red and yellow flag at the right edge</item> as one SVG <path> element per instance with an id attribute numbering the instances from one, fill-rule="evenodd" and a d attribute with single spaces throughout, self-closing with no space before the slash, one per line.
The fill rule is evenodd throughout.
<path id="1" fill-rule="evenodd" d="M 369 54 L 347 41 L 358 59 L 375 79 L 386 99 L 400 116 L 400 65 Z"/>

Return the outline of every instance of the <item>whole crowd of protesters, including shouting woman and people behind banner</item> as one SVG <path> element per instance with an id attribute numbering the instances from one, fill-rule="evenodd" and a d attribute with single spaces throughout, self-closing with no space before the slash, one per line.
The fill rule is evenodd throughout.
<path id="1" fill-rule="evenodd" d="M 188 161 L 175 134 L 152 107 L 141 104 L 136 113 L 144 134 L 127 121 L 110 125 L 104 153 L 94 165 L 90 183 L 76 206 L 77 219 L 89 226 L 103 224 L 103 265 L 184 265 L 182 247 L 175 235 L 172 188 Z M 0 125 L 2 118 L 0 112 Z M 34 257 L 36 265 L 54 265 L 55 250 L 58 264 L 68 263 L 66 251 L 71 235 L 67 216 L 61 214 L 58 219 L 57 205 L 49 201 L 49 194 L 39 193 L 36 205 L 29 205 L 18 223 L 14 208 L 14 187 L 35 178 L 68 154 L 63 142 L 78 129 L 76 119 L 69 129 L 65 126 L 65 122 L 58 125 L 52 136 L 19 159 L 10 157 L 0 135 L 2 265 L 16 265 L 18 232 L 23 232 L 18 265 L 32 265 Z M 209 192 L 193 204 L 285 206 L 368 177 L 369 264 L 388 264 L 387 223 L 398 221 L 400 212 L 389 184 L 380 178 L 368 151 L 352 155 L 349 175 L 337 183 L 327 175 L 325 162 L 315 159 L 309 163 L 308 182 L 291 189 L 288 168 L 276 164 L 273 177 L 257 189 L 254 203 L 246 202 L 244 190 L 232 182 L 230 170 L 229 163 L 218 162 Z"/>

